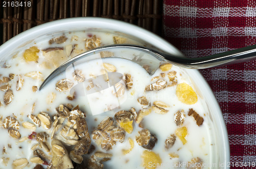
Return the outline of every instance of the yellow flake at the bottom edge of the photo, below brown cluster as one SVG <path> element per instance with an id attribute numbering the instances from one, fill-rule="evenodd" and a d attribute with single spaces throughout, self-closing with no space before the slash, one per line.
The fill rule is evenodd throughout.
<path id="1" fill-rule="evenodd" d="M 148 151 L 148 150 L 143 151 L 142 160 L 143 160 L 142 165 L 146 169 L 155 169 L 157 166 L 160 166 L 162 163 L 162 160 L 159 154 L 156 154 L 153 151 Z"/>

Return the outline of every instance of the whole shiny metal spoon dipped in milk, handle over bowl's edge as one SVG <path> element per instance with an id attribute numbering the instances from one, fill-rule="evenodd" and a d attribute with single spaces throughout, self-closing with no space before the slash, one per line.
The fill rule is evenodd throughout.
<path id="1" fill-rule="evenodd" d="M 144 46 L 132 45 L 132 44 L 114 44 L 105 45 L 90 51 L 86 51 L 77 55 L 76 57 L 68 60 L 67 62 L 60 65 L 55 69 L 45 80 L 42 82 L 39 90 L 41 90 L 52 78 L 65 71 L 70 65 L 74 67 L 77 61 L 83 59 L 82 62 L 87 62 L 92 60 L 93 55 L 100 55 L 103 51 L 121 51 L 118 55 L 114 57 L 124 58 L 138 63 L 141 66 L 147 65 L 150 69 L 147 72 L 153 75 L 158 69 L 162 62 L 171 63 L 173 65 L 188 68 L 188 69 L 205 69 L 216 67 L 220 65 L 240 63 L 256 59 L 256 45 L 251 45 L 235 50 L 230 50 L 227 52 L 222 52 L 214 55 L 209 55 L 207 57 L 201 58 L 184 58 L 184 56 L 172 55 L 168 53 L 163 53 L 154 49 L 150 49 Z M 133 51 L 137 54 L 129 54 L 125 51 Z M 89 57 L 91 56 L 91 57 Z M 80 63 L 80 62 L 79 62 Z"/>

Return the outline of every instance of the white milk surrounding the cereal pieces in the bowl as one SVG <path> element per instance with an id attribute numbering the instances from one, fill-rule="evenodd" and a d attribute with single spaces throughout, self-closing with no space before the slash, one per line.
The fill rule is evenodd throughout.
<path id="1" fill-rule="evenodd" d="M 138 112 L 140 109 L 142 109 L 142 107 L 138 103 L 137 98 L 140 96 L 145 96 L 147 100 L 151 102 L 151 104 L 153 104 L 153 102 L 156 100 L 161 100 L 170 106 L 166 108 L 168 110 L 166 114 L 156 114 L 156 112 L 153 111 L 150 115 L 145 116 L 143 119 L 144 128 L 150 130 L 151 133 L 154 133 L 158 139 L 152 151 L 156 154 L 159 154 L 160 158 L 162 159 L 162 162 L 159 164 L 159 168 L 171 168 L 178 163 L 190 161 L 194 157 L 200 157 L 203 160 L 203 163 L 210 164 L 211 152 L 213 149 L 212 144 L 214 143 L 211 138 L 212 133 L 210 131 L 210 120 L 207 116 L 208 112 L 204 100 L 198 96 L 197 103 L 193 105 L 184 104 L 179 101 L 176 96 L 176 86 L 168 87 L 159 91 L 145 91 L 145 87 L 152 83 L 152 78 L 159 76 L 160 73 L 162 73 L 160 69 L 158 69 L 154 75 L 151 76 L 140 65 L 132 61 L 120 58 L 98 58 L 75 65 L 75 69 L 81 70 L 86 79 L 95 79 L 97 76 L 104 75 L 104 72 L 102 72 L 102 70 L 104 70 L 104 67 L 102 66 L 103 63 L 114 65 L 116 68 L 115 73 L 119 73 L 120 75 L 124 75 L 125 73 L 131 74 L 133 77 L 132 89 L 125 90 L 124 94 L 118 98 L 113 94 L 113 91 L 115 91 L 115 86 L 109 83 L 109 81 L 106 81 L 108 88 L 102 87 L 102 90 L 94 91 L 91 93 L 84 90 L 85 88 L 77 88 L 74 90 L 76 91 L 78 89 L 82 89 L 84 91 L 76 91 L 77 98 L 73 101 L 68 100 L 67 96 L 73 94 L 73 91 L 68 90 L 65 92 L 58 92 L 55 89 L 55 84 L 58 80 L 63 78 L 72 79 L 72 73 L 74 71 L 72 67 L 52 79 L 41 91 L 37 90 L 35 93 L 32 91 L 32 86 L 37 86 L 39 88 L 42 79 L 32 79 L 25 76 L 26 73 L 39 71 L 42 74 L 42 78 L 45 79 L 51 73 L 51 71 L 54 70 L 54 68 L 45 69 L 41 66 L 41 63 L 44 62 L 44 56 L 42 55 L 41 51 L 42 49 L 48 47 L 65 48 L 65 46 L 69 44 L 78 44 L 78 48 L 82 51 L 85 51 L 84 39 L 90 39 L 91 35 L 96 35 L 99 37 L 101 39 L 101 44 L 113 43 L 112 34 L 101 32 L 69 33 L 65 35 L 68 37 L 68 39 L 63 44 L 49 45 L 48 40 L 36 41 L 33 45 L 40 49 L 40 52 L 38 53 L 38 63 L 28 63 L 24 61 L 23 52 L 26 48 L 29 48 L 28 46 L 20 49 L 17 55 L 8 61 L 8 64 L 11 67 L 0 69 L 2 77 L 8 77 L 10 73 L 14 73 L 15 75 L 20 74 L 24 78 L 24 85 L 19 91 L 16 91 L 17 76 L 15 76 L 15 78 L 9 82 L 11 85 L 10 89 L 12 89 L 14 95 L 14 98 L 10 104 L 4 104 L 3 96 L 5 92 L 0 91 L 0 95 L 2 96 L 0 97 L 0 101 L 3 104 L 3 106 L 0 107 L 0 112 L 3 116 L 2 122 L 7 116 L 15 116 L 20 124 L 20 129 L 18 131 L 20 132 L 21 137 L 27 137 L 32 133 L 32 131 L 24 128 L 22 123 L 30 121 L 27 117 L 28 115 L 37 115 L 39 112 L 45 111 L 50 116 L 52 116 L 56 114 L 55 108 L 60 104 L 71 103 L 74 106 L 79 105 L 81 110 L 87 112 L 86 121 L 88 123 L 89 132 L 91 134 L 91 132 L 105 117 L 114 117 L 115 113 L 119 110 L 129 110 L 131 107 L 134 107 Z M 71 40 L 74 36 L 78 37 L 77 41 Z M 136 43 L 133 40 L 129 40 L 129 42 Z M 67 57 L 67 59 L 69 58 Z M 178 83 L 186 82 L 188 85 L 193 87 L 192 82 L 189 80 L 190 78 L 181 68 L 173 66 L 172 71 L 177 72 Z M 117 82 L 124 84 L 122 78 L 118 79 Z M 74 81 L 74 86 L 75 85 L 80 84 Z M 49 98 L 53 96 L 55 98 L 52 99 L 50 103 L 47 103 L 49 102 Z M 204 118 L 204 122 L 201 126 L 196 125 L 196 121 L 193 117 L 187 116 L 189 108 L 193 108 L 201 117 Z M 164 145 L 165 139 L 169 137 L 170 134 L 175 133 L 177 125 L 174 122 L 174 115 L 178 110 L 181 109 L 183 109 L 186 114 L 183 126 L 186 126 L 188 130 L 188 135 L 186 137 L 187 143 L 183 145 L 181 140 L 176 138 L 174 146 L 166 150 Z M 135 122 L 133 127 L 134 130 L 131 134 L 126 133 L 123 143 L 117 142 L 112 150 L 107 151 L 107 153 L 113 154 L 113 157 L 111 160 L 103 162 L 104 168 L 144 168 L 142 166 L 141 155 L 146 149 L 142 148 L 136 143 L 136 136 L 138 135 L 138 131 L 141 130 L 141 128 Z M 47 132 L 51 133 L 52 130 L 53 128 L 50 128 Z M 40 131 L 46 130 L 42 127 L 37 127 L 35 132 Z M 10 137 L 8 130 L 3 127 L 0 128 L 0 134 L 2 138 L 4 138 L 0 143 L 0 149 L 6 147 L 6 153 L 1 155 L 2 161 L 0 159 L 0 168 L 12 168 L 13 160 L 18 158 L 27 158 L 29 161 L 30 158 L 34 157 L 31 148 L 37 144 L 36 140 L 28 139 L 24 142 L 19 142 L 18 139 Z M 133 139 L 134 148 L 129 154 L 124 155 L 122 150 L 130 148 L 128 138 Z M 11 148 L 8 148 L 8 144 L 11 145 Z M 94 142 L 94 140 L 92 140 L 92 144 L 96 146 L 96 150 L 102 151 L 100 146 L 97 147 L 97 144 Z M 179 158 L 170 159 L 168 155 L 169 153 L 176 153 L 179 155 Z M 85 155 L 85 157 L 89 157 L 90 155 Z M 9 158 L 9 162 L 4 163 L 3 158 Z M 35 163 L 29 162 L 25 168 L 33 168 L 35 165 Z M 47 166 L 44 165 L 44 167 L 46 168 Z M 181 168 L 186 168 L 186 165 L 182 165 Z"/>

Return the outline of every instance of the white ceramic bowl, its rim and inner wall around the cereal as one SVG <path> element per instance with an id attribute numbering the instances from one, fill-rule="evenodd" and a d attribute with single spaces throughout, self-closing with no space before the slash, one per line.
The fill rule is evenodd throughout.
<path id="1" fill-rule="evenodd" d="M 165 52 L 182 55 L 178 49 L 164 39 L 138 26 L 112 19 L 86 17 L 52 21 L 20 33 L 0 46 L 0 61 L 3 63 L 9 56 L 17 52 L 20 47 L 31 45 L 34 40 L 38 41 L 38 39 L 47 37 L 49 39 L 53 34 L 57 33 L 91 29 L 116 32 L 120 35 L 125 34 L 128 37 L 151 44 Z M 227 168 L 226 164 L 230 161 L 229 142 L 221 109 L 210 87 L 199 71 L 187 69 L 186 72 L 193 78 L 195 87 L 197 87 L 197 93 L 205 99 L 212 121 L 212 126 L 210 126 L 212 135 L 209 136 L 214 139 L 215 145 L 210 153 L 212 165 L 216 164 L 216 167 L 212 168 Z"/>

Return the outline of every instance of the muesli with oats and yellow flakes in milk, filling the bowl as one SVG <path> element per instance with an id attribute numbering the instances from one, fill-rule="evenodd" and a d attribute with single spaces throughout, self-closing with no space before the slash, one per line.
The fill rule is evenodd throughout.
<path id="1" fill-rule="evenodd" d="M 117 43 L 136 42 L 110 33 L 72 32 L 25 46 L 4 63 L 0 168 L 204 168 L 210 163 L 203 99 L 190 77 L 172 64 L 162 63 L 151 76 L 148 65 L 105 51 L 38 90 L 63 62 Z"/>

